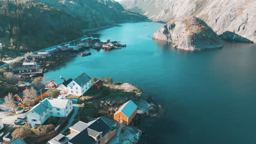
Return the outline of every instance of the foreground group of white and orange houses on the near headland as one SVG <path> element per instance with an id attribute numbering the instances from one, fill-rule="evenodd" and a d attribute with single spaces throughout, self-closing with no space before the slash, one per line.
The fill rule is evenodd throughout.
<path id="1" fill-rule="evenodd" d="M 49 81 L 46 85 L 46 88 L 40 89 L 32 83 L 25 82 L 17 87 L 18 93 L 13 96 L 15 103 L 19 105 L 16 113 L 22 113 L 23 108 L 26 106 L 23 93 L 26 89 L 31 87 L 36 89 L 38 97 L 36 98 L 37 104 L 27 111 L 25 115 L 21 114 L 17 119 L 19 123 L 15 124 L 24 125 L 27 122 L 31 128 L 34 128 L 43 125 L 50 117 L 67 118 L 73 111 L 73 103 L 77 103 L 77 101 L 61 97 L 61 95 L 82 96 L 90 88 L 101 89 L 104 82 L 100 79 L 92 83 L 91 77 L 82 73 L 73 79 L 60 77 L 59 79 Z M 49 89 L 59 90 L 60 96 L 58 98 L 48 98 Z M 137 105 L 132 100 L 129 100 L 114 113 L 113 119 L 101 116 L 90 119 L 88 123 L 78 121 L 72 127 L 69 127 L 70 134 L 59 134 L 51 139 L 49 143 L 107 143 L 117 133 L 118 123 L 129 125 L 136 113 Z M 1 119 L 0 128 L 3 128 Z M 15 141 L 22 140 L 18 137 L 11 142 Z"/>

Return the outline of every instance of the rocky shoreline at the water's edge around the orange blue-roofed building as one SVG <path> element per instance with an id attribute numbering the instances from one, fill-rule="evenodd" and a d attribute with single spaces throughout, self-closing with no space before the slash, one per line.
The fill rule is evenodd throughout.
<path id="1" fill-rule="evenodd" d="M 143 135 L 147 135 L 146 127 L 142 123 L 147 118 L 157 118 L 161 116 L 162 106 L 158 104 L 150 95 L 145 94 L 130 83 L 123 83 L 121 86 L 114 86 L 112 88 L 123 89 L 124 92 L 135 92 L 138 100 L 133 100 L 138 106 L 137 115 L 133 118 L 129 127 L 122 127 L 121 135 L 119 135 L 119 143 L 147 143 Z M 132 136 L 131 136 L 132 134 Z M 115 141 L 116 142 L 116 141 Z"/>

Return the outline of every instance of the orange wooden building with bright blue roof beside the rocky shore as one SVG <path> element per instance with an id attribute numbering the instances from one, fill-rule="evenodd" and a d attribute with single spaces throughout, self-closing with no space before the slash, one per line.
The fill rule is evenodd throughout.
<path id="1" fill-rule="evenodd" d="M 120 109 L 117 112 L 115 112 L 115 121 L 129 125 L 133 117 L 136 116 L 137 108 L 138 106 L 135 103 L 133 103 L 132 100 L 127 101 L 120 107 Z"/>

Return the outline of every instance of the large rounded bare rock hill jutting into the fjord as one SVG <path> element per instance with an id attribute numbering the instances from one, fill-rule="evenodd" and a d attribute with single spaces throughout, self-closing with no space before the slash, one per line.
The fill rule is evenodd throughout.
<path id="1" fill-rule="evenodd" d="M 173 47 L 188 51 L 217 49 L 224 45 L 211 27 L 194 16 L 183 16 L 168 22 L 152 38 L 169 41 Z"/>

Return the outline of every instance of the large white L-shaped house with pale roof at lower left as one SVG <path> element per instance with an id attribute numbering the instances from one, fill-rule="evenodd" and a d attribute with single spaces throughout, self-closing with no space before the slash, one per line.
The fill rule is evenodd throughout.
<path id="1" fill-rule="evenodd" d="M 30 127 L 43 124 L 49 117 L 67 117 L 73 110 L 71 99 L 46 98 L 26 113 Z"/>

